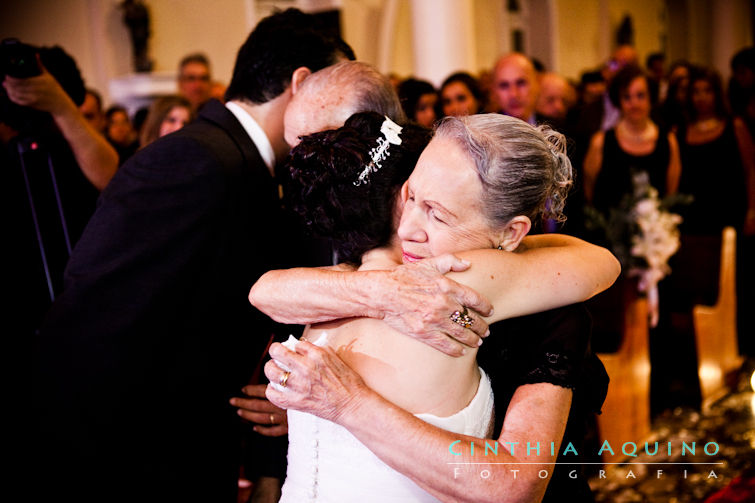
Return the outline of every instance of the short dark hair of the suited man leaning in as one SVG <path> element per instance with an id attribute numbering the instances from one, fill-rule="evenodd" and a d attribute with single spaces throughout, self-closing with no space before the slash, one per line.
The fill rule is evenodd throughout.
<path id="1" fill-rule="evenodd" d="M 299 67 L 316 72 L 346 57 L 351 48 L 340 38 L 325 34 L 317 18 L 298 9 L 266 17 L 239 49 L 226 101 L 266 103 L 279 96 Z"/>

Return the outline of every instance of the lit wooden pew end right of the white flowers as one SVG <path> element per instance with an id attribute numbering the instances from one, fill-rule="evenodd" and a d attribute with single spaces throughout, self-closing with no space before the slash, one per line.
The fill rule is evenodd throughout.
<path id="1" fill-rule="evenodd" d="M 703 407 L 726 392 L 727 375 L 742 365 L 737 348 L 736 244 L 736 231 L 732 227 L 725 228 L 721 240 L 718 298 L 713 306 L 693 308 Z"/>

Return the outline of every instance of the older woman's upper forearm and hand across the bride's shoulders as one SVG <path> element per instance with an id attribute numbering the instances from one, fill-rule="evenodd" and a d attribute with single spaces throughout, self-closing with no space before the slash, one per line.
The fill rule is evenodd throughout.
<path id="1" fill-rule="evenodd" d="M 447 256 L 448 270 L 469 264 Z M 430 267 L 400 266 L 391 271 L 316 268 L 268 271 L 252 287 L 249 301 L 276 321 L 307 324 L 341 318 L 381 319 L 452 356 L 464 346 L 476 348 L 488 325 L 478 318 L 471 330 L 453 323 L 449 314 L 468 306 L 488 315 L 492 306 L 471 288 Z"/>

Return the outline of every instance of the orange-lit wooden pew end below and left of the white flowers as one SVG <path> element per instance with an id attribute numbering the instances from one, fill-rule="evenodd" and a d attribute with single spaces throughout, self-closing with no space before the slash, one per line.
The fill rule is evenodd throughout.
<path id="1" fill-rule="evenodd" d="M 613 288 L 618 288 L 619 291 L 612 295 L 610 292 L 606 293 L 609 294 L 607 299 L 612 302 L 613 309 L 619 309 L 617 326 L 621 331 L 621 342 L 616 351 L 598 353 L 611 379 L 603 412 L 598 416 L 600 443 L 602 445 L 608 440 L 614 451 L 614 455 L 607 450 L 603 451 L 604 462 L 621 460 L 625 457 L 621 452 L 624 442 L 639 443 L 650 432 L 647 300 L 637 295 L 636 281 L 623 279 Z M 600 317 L 601 302 L 605 300 L 596 298 L 596 303 L 588 304 L 594 318 Z M 617 302 L 620 304 L 616 304 Z M 599 320 L 595 321 L 600 328 Z"/>

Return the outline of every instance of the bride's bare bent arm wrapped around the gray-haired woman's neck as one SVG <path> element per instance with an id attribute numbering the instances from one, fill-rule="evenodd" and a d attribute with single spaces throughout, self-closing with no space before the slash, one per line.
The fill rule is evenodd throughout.
<path id="1" fill-rule="evenodd" d="M 471 266 L 447 274 L 491 301 L 488 323 L 585 301 L 610 287 L 621 272 L 610 251 L 572 236 L 531 236 L 520 248 L 457 253 Z"/>

